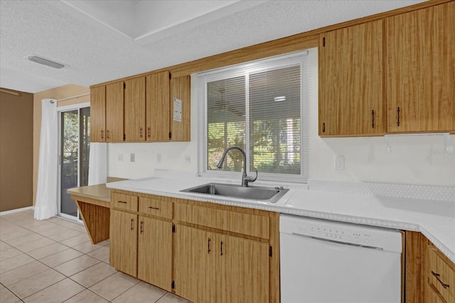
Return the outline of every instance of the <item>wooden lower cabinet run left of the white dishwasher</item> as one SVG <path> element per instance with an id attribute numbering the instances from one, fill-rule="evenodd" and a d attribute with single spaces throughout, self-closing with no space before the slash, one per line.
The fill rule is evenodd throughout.
<path id="1" fill-rule="evenodd" d="M 279 214 L 118 189 L 111 197 L 117 270 L 195 303 L 279 302 Z"/>

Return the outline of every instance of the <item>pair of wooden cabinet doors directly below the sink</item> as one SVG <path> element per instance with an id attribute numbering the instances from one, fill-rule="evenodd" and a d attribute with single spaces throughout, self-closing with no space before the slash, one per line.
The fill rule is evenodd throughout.
<path id="1" fill-rule="evenodd" d="M 192 302 L 268 302 L 269 244 L 176 226 L 174 290 Z"/>

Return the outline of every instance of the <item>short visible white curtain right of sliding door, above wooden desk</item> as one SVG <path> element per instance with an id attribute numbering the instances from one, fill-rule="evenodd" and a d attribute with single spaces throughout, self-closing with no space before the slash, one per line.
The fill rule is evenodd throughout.
<path id="1" fill-rule="evenodd" d="M 90 143 L 88 184 L 103 184 L 107 180 L 107 143 Z"/>

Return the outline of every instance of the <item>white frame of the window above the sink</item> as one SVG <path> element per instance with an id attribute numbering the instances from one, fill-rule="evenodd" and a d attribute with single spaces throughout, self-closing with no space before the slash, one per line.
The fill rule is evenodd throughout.
<path id="1" fill-rule="evenodd" d="M 300 160 L 301 173 L 300 175 L 276 174 L 270 172 L 259 172 L 258 181 L 279 181 L 279 182 L 299 182 L 306 183 L 308 179 L 308 128 L 309 128 L 309 96 L 308 85 L 309 70 L 308 70 L 308 51 L 300 51 L 276 57 L 264 58 L 252 62 L 245 62 L 239 65 L 222 67 L 216 70 L 200 72 L 197 76 L 198 83 L 198 176 L 209 178 L 237 179 L 242 172 L 229 172 L 223 170 L 208 170 L 208 113 L 207 113 L 207 83 L 218 81 L 220 79 L 229 79 L 232 77 L 245 76 L 245 83 L 249 81 L 249 75 L 257 72 L 277 70 L 284 67 L 300 66 L 301 77 L 301 93 L 300 93 Z M 248 85 L 245 87 L 245 96 L 248 96 L 250 89 Z M 245 97 L 245 121 L 246 136 L 245 136 L 245 153 L 247 154 L 247 174 L 255 175 L 255 172 L 250 171 L 250 100 Z"/>

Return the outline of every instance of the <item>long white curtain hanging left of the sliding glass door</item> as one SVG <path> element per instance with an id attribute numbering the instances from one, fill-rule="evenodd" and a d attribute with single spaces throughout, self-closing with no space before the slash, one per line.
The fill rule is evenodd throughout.
<path id="1" fill-rule="evenodd" d="M 38 160 L 35 219 L 57 215 L 58 115 L 57 100 L 41 100 L 41 138 Z"/>

